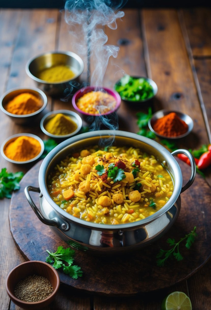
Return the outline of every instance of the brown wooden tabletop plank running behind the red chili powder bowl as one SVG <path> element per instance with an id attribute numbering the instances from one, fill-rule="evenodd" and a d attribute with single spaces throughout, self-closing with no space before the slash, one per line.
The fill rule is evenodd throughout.
<path id="1" fill-rule="evenodd" d="M 201 143 L 208 143 L 208 136 L 177 11 L 144 10 L 143 16 L 152 78 L 158 86 L 154 108 L 190 115 L 193 132 L 178 144 L 198 148 Z"/>

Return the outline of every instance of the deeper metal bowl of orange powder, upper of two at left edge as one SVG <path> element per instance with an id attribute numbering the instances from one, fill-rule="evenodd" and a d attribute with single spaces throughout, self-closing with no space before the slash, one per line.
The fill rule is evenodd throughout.
<path id="1" fill-rule="evenodd" d="M 43 115 L 47 97 L 38 88 L 13 88 L 0 98 L 0 108 L 16 124 L 32 124 Z"/>

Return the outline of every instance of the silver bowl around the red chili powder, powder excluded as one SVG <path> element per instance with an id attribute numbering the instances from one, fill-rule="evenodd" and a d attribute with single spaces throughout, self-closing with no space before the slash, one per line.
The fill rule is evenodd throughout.
<path id="1" fill-rule="evenodd" d="M 154 129 L 153 129 L 154 122 L 158 118 L 164 117 L 165 115 L 167 115 L 169 113 L 172 113 L 172 112 L 176 113 L 177 116 L 187 124 L 187 126 L 188 126 L 187 131 L 183 135 L 172 136 L 172 137 L 167 137 L 167 136 L 164 136 L 164 135 L 160 135 L 156 131 L 154 131 Z M 166 139 L 166 138 L 167 139 L 179 139 L 179 138 L 183 138 L 183 137 L 189 135 L 189 133 L 192 131 L 192 129 L 193 129 L 193 120 L 192 120 L 192 118 L 189 115 L 187 115 L 185 113 L 182 113 L 182 112 L 171 111 L 171 110 L 160 110 L 160 111 L 157 111 L 156 113 L 154 113 L 153 116 L 149 119 L 148 126 L 149 126 L 149 129 L 155 135 L 157 135 L 157 136 L 159 136 L 161 138 L 164 138 L 164 139 Z"/>

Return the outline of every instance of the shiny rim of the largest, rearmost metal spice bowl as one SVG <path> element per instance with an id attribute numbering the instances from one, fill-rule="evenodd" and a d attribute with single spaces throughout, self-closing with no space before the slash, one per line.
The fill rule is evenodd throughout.
<path id="1" fill-rule="evenodd" d="M 37 58 L 39 58 L 41 56 L 44 56 L 44 55 L 48 55 L 48 54 L 49 55 L 50 54 L 62 54 L 62 55 L 67 55 L 67 56 L 75 58 L 79 62 L 79 64 L 80 64 L 80 67 L 81 67 L 80 71 L 73 78 L 68 79 L 68 80 L 64 80 L 64 81 L 60 81 L 60 82 L 47 82 L 47 81 L 44 81 L 44 80 L 41 80 L 41 79 L 37 78 L 35 75 L 33 75 L 31 73 L 31 71 L 29 70 L 29 66 Z M 73 81 L 76 78 L 78 78 L 81 75 L 81 73 L 84 71 L 84 62 L 83 62 L 83 60 L 81 59 L 81 57 L 79 55 L 77 55 L 77 54 L 75 54 L 74 52 L 71 52 L 71 51 L 48 51 L 48 52 L 44 52 L 44 53 L 41 53 L 41 54 L 39 54 L 37 56 L 34 56 L 34 57 L 30 58 L 27 61 L 27 63 L 26 63 L 25 69 L 26 69 L 26 73 L 28 74 L 28 76 L 30 78 L 32 78 L 34 81 L 36 81 L 36 82 L 39 82 L 39 83 L 42 83 L 42 84 L 47 84 L 47 85 L 49 85 L 49 84 L 59 85 L 59 84 L 63 84 L 63 83 L 67 83 L 67 82 Z"/>

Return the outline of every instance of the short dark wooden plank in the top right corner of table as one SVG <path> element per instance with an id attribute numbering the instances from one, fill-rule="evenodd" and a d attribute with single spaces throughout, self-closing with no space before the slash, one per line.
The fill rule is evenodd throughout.
<path id="1" fill-rule="evenodd" d="M 209 7 L 183 9 L 183 14 L 193 57 L 210 57 L 211 9 Z"/>

